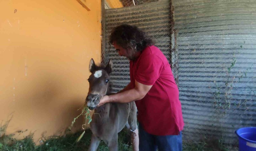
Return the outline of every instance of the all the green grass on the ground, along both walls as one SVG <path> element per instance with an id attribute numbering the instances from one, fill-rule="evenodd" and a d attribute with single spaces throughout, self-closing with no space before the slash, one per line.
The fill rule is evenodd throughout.
<path id="1" fill-rule="evenodd" d="M 20 132 L 22 133 L 22 132 Z M 86 130 L 84 137 L 78 142 L 76 139 L 82 132 L 75 134 L 67 134 L 66 136 L 55 136 L 45 138 L 41 145 L 36 146 L 33 142 L 33 137 L 28 136 L 23 140 L 15 140 L 13 135 L 0 137 L 0 151 L 84 151 L 88 150 L 90 145 L 90 139 L 92 132 Z M 132 151 L 129 146 L 129 135 L 126 129 L 119 133 L 118 145 L 120 151 Z M 108 151 L 107 146 L 101 141 L 98 151 Z M 231 151 L 225 145 L 218 141 L 205 142 L 193 142 L 183 141 L 183 151 Z M 235 149 L 236 150 L 236 149 Z"/>

